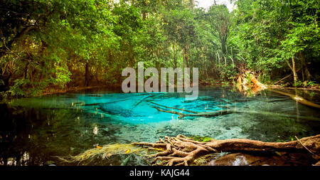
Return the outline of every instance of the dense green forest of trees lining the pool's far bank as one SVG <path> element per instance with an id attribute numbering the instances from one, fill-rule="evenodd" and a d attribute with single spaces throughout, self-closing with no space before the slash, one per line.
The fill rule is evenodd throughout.
<path id="1" fill-rule="evenodd" d="M 119 86 L 126 67 L 197 67 L 199 79 L 235 83 L 243 70 L 272 84 L 319 83 L 319 1 L 1 0 L 0 88 Z"/>

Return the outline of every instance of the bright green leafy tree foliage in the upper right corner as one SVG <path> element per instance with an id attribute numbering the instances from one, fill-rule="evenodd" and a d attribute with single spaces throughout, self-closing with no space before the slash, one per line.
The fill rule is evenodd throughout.
<path id="1" fill-rule="evenodd" d="M 249 68 L 267 75 L 319 60 L 319 1 L 236 1 L 235 45 Z M 270 77 L 274 78 L 274 77 Z"/>

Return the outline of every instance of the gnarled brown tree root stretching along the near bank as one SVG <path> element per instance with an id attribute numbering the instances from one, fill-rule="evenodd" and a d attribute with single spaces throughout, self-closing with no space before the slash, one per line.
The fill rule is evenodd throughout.
<path id="1" fill-rule="evenodd" d="M 299 141 L 292 142 L 261 142 L 250 139 L 211 139 L 210 142 L 197 142 L 179 134 L 177 137 L 165 137 L 164 140 L 160 139 L 156 143 L 134 142 L 132 144 L 163 149 L 163 152 L 150 155 L 150 157 L 154 158 L 153 165 L 188 166 L 188 164 L 191 164 L 198 157 L 216 152 L 309 151 L 314 159 L 320 160 L 320 134 L 313 137 L 304 137 L 299 139 Z"/>

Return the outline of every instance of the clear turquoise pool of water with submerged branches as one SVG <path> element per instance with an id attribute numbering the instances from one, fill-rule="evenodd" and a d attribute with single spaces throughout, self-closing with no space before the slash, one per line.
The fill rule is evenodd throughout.
<path id="1" fill-rule="evenodd" d="M 314 102 L 319 100 L 316 92 L 306 95 Z M 0 104 L 0 164 L 44 165 L 53 161 L 59 165 L 56 156 L 80 154 L 97 144 L 154 142 L 178 134 L 269 142 L 319 134 L 319 110 L 289 98 L 279 100 L 286 98 L 279 96 L 264 91 L 245 97 L 231 88 L 204 88 L 194 101 L 185 100 L 183 93 L 106 90 L 11 100 Z M 221 105 L 255 113 L 179 118 L 154 108 L 212 112 L 223 110 Z"/>

